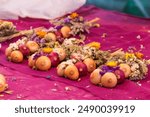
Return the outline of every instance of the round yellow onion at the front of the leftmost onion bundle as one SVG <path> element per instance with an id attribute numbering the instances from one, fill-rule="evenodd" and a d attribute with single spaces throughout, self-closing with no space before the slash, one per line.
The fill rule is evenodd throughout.
<path id="1" fill-rule="evenodd" d="M 12 51 L 10 59 L 12 62 L 21 63 L 23 61 L 23 54 L 18 50 Z"/>

